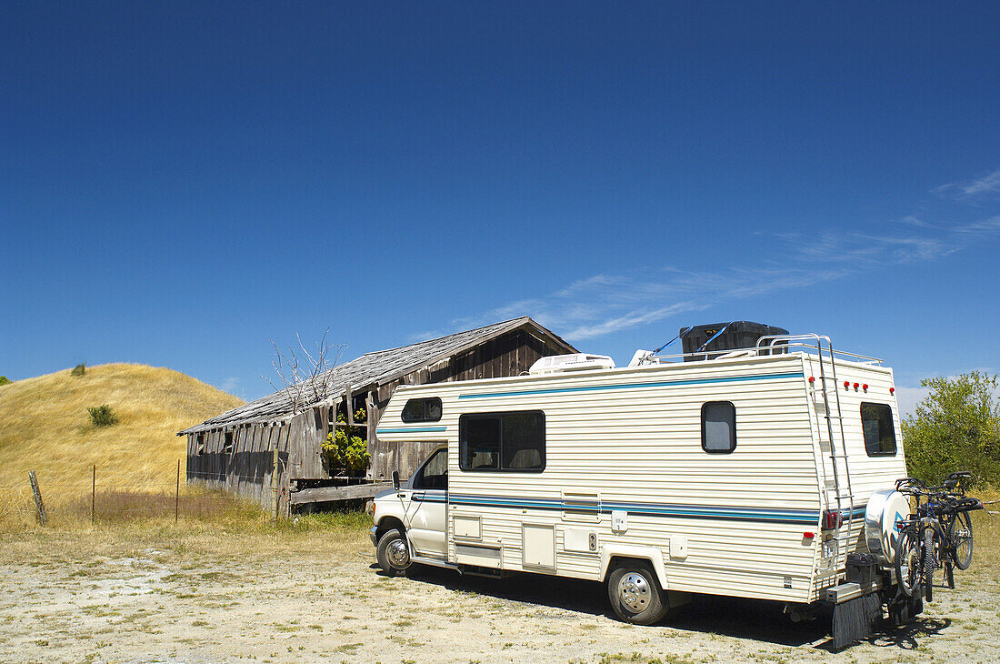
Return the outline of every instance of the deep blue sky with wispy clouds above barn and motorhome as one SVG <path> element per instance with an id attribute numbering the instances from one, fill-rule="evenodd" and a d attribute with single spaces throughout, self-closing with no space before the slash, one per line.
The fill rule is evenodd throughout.
<path id="1" fill-rule="evenodd" d="M 527 314 L 1000 368 L 1000 7 L 6 3 L 0 373 Z"/>

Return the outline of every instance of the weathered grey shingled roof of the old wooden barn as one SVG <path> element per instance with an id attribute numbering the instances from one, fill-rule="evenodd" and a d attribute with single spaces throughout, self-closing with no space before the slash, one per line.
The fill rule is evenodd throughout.
<path id="1" fill-rule="evenodd" d="M 474 330 L 458 332 L 457 334 L 449 334 L 446 337 L 421 341 L 409 346 L 365 353 L 357 359 L 337 365 L 316 378 L 317 382 L 326 384 L 326 389 L 320 390 L 320 392 L 326 394 L 326 397 L 312 402 L 307 401 L 303 405 L 303 408 L 312 408 L 313 406 L 338 401 L 347 393 L 348 387 L 351 388 L 353 394 L 366 391 L 373 385 L 389 383 L 418 369 L 436 364 L 449 357 L 470 350 L 493 337 L 498 337 L 501 334 L 521 327 L 527 327 L 537 335 L 546 337 L 556 344 L 564 346 L 568 353 L 576 352 L 573 346 L 528 316 L 512 318 L 500 323 L 477 327 Z M 292 412 L 291 398 L 289 397 L 292 389 L 279 390 L 274 394 L 261 397 L 239 408 L 234 408 L 221 415 L 205 420 L 197 426 L 180 431 L 177 435 L 208 431 L 210 429 L 237 424 L 275 422 L 288 419 L 295 414 Z"/>

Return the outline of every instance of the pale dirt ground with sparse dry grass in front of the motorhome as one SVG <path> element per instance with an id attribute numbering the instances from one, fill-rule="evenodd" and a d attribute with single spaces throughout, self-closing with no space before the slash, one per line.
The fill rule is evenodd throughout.
<path id="1" fill-rule="evenodd" d="M 609 615 L 596 583 L 434 569 L 388 578 L 357 532 L 337 546 L 313 535 L 307 554 L 268 546 L 258 554 L 253 537 L 220 551 L 169 533 L 140 538 L 139 548 L 134 538 L 126 545 L 124 533 L 83 548 L 70 534 L 7 535 L 0 660 L 987 662 L 1000 655 L 992 575 L 967 573 L 909 628 L 831 654 L 824 625 L 793 624 L 771 604 L 701 598 L 662 625 L 638 627 Z"/>

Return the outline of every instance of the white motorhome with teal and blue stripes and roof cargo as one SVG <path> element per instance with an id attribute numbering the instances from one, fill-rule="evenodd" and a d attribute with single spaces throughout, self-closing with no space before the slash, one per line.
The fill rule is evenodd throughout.
<path id="1" fill-rule="evenodd" d="M 893 580 L 891 553 L 869 554 L 866 503 L 906 476 L 894 392 L 880 360 L 816 335 L 400 387 L 378 436 L 435 451 L 376 498 L 372 542 L 387 573 L 605 581 L 640 624 L 690 593 L 778 600 L 793 619 L 850 606 L 872 622 Z"/>

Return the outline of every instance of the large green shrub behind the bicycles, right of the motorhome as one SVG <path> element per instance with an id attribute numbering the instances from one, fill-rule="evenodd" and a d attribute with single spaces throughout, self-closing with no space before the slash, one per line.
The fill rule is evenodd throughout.
<path id="1" fill-rule="evenodd" d="M 996 376 L 974 371 L 920 381 L 930 394 L 903 421 L 906 469 L 938 484 L 957 470 L 970 485 L 1000 486 L 1000 395 Z"/>

